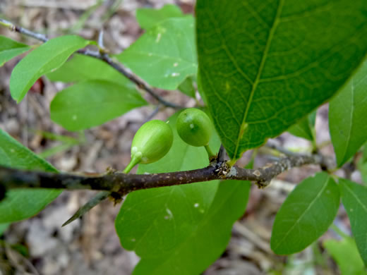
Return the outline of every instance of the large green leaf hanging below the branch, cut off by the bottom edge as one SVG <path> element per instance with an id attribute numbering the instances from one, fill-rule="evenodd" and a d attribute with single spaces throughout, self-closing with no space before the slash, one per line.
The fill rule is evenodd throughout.
<path id="1" fill-rule="evenodd" d="M 198 186 L 196 187 L 198 188 Z M 167 231 L 164 230 L 166 234 L 162 234 L 163 226 L 157 226 L 157 231 L 154 231 L 156 234 L 155 243 L 160 245 L 161 236 L 168 239 L 167 243 L 172 240 L 173 247 L 166 248 L 164 245 L 160 245 L 162 250 L 167 249 L 170 254 L 162 255 L 158 259 L 153 253 L 149 253 L 147 257 L 142 256 L 133 274 L 191 275 L 203 272 L 222 255 L 227 247 L 234 221 L 239 219 L 246 209 L 250 187 L 251 183 L 245 181 L 224 181 L 219 184 L 212 204 L 202 219 L 197 216 L 195 219 L 190 219 L 191 214 L 186 214 L 176 221 L 179 226 L 182 223 L 183 228 L 180 230 L 170 226 Z M 186 190 L 184 193 L 191 195 L 190 192 L 186 193 Z M 178 196 L 179 194 L 176 194 L 176 197 Z M 180 200 L 179 202 L 190 204 L 193 203 L 193 200 Z M 172 204 L 174 203 L 172 202 Z M 195 204 L 191 208 L 195 209 Z M 189 206 L 181 207 L 180 210 L 192 212 Z M 200 212 L 200 210 L 202 209 L 198 211 Z M 172 213 L 175 212 L 172 211 Z M 190 221 L 186 221 L 186 218 Z M 175 230 L 187 230 L 188 232 L 181 234 L 181 232 L 176 233 Z M 156 253 L 160 253 L 160 251 Z"/>

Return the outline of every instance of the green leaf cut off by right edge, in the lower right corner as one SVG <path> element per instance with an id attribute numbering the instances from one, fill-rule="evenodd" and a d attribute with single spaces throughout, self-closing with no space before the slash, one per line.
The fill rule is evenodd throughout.
<path id="1" fill-rule="evenodd" d="M 339 178 L 342 202 L 351 222 L 351 232 L 367 266 L 367 187 Z"/>

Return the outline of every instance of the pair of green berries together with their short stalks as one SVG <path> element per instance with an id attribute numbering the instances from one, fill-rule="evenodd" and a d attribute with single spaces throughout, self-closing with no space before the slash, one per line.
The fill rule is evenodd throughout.
<path id="1" fill-rule="evenodd" d="M 195 147 L 204 146 L 209 158 L 214 157 L 209 148 L 213 127 L 209 116 L 195 108 L 185 109 L 176 121 L 180 138 Z M 171 149 L 174 135 L 171 127 L 164 121 L 148 121 L 139 128 L 131 144 L 131 161 L 124 173 L 136 164 L 150 164 L 162 159 Z"/>

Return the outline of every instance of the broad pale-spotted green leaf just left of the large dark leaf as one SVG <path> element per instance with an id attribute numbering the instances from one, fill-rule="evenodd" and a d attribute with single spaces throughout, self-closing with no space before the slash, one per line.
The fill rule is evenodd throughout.
<path id="1" fill-rule="evenodd" d="M 150 85 L 176 90 L 198 70 L 193 27 L 192 16 L 164 20 L 117 58 Z"/>

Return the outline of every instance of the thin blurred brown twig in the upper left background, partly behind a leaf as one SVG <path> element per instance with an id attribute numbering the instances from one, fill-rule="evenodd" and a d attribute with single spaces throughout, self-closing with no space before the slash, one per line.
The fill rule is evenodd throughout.
<path id="1" fill-rule="evenodd" d="M 3 25 L 4 27 L 8 27 L 13 32 L 19 32 L 23 35 L 26 35 L 28 37 L 35 38 L 37 40 L 40 40 L 42 42 L 47 42 L 49 39 L 40 33 L 32 32 L 30 30 L 25 29 L 24 27 L 18 27 L 17 25 L 14 25 L 13 23 L 1 19 L 0 18 L 0 25 Z M 85 56 L 90 56 L 95 59 L 100 59 L 101 61 L 104 61 L 105 63 L 109 64 L 112 68 L 114 68 L 116 71 L 124 75 L 126 78 L 131 80 L 131 82 L 134 82 L 140 89 L 145 90 L 145 92 L 148 92 L 152 97 L 154 97 L 158 102 L 163 104 L 164 106 L 171 107 L 174 109 L 181 109 L 182 106 L 176 105 L 172 102 L 167 102 L 164 100 L 160 95 L 158 95 L 155 90 L 152 89 L 148 84 L 146 84 L 143 80 L 140 80 L 136 75 L 129 72 L 124 66 L 122 66 L 121 63 L 114 61 L 108 54 L 104 52 L 104 49 L 100 49 L 100 51 L 90 51 L 90 49 L 80 49 L 77 51 L 78 54 L 83 54 Z"/>

